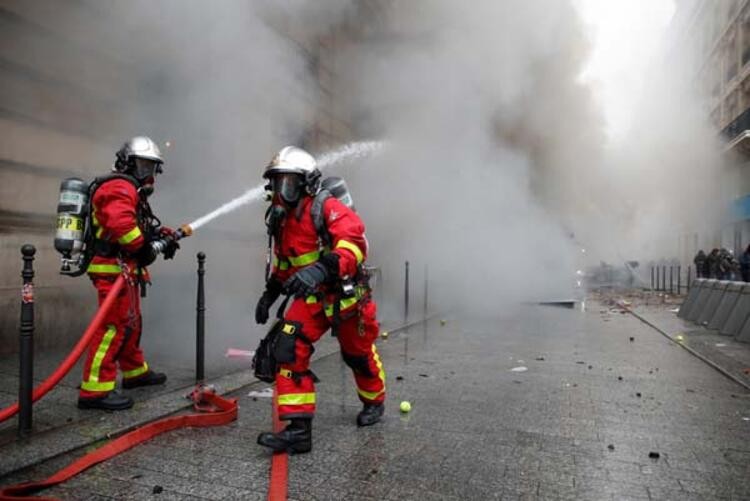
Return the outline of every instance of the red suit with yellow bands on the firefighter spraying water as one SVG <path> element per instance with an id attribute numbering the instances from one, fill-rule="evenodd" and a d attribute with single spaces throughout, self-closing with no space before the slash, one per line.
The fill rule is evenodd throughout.
<path id="1" fill-rule="evenodd" d="M 105 181 L 94 193 L 92 221 L 97 239 L 119 248 L 122 256 L 95 256 L 88 268 L 101 305 L 112 283 L 121 272 L 120 262 L 129 269 L 130 280 L 123 288 L 102 326 L 94 334 L 83 367 L 81 398 L 103 397 L 115 389 L 117 365 L 123 378 L 134 378 L 148 371 L 141 350 L 141 305 L 136 280 L 137 260 L 127 257 L 145 243 L 140 221 L 141 204 L 136 187 L 125 179 Z M 141 273 L 147 275 L 145 269 Z"/>

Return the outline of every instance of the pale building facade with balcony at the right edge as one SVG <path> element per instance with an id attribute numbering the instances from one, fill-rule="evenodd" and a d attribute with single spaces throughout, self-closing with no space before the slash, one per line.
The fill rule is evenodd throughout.
<path id="1" fill-rule="evenodd" d="M 713 247 L 739 254 L 750 243 L 750 2 L 678 0 L 672 28 L 724 150 L 723 165 L 715 166 L 723 224 L 681 234 L 680 256 L 690 262 L 698 249 Z"/>

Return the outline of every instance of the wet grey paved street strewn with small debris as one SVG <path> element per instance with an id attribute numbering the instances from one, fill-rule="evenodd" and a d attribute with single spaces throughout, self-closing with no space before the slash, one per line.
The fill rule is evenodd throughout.
<path id="1" fill-rule="evenodd" d="M 750 499 L 750 393 L 637 318 L 587 307 L 435 320 L 381 340 L 387 412 L 371 428 L 354 424 L 340 357 L 318 359 L 313 451 L 290 458 L 289 498 Z M 266 499 L 271 456 L 255 437 L 270 399 L 247 392 L 237 422 L 157 437 L 45 494 Z"/>

